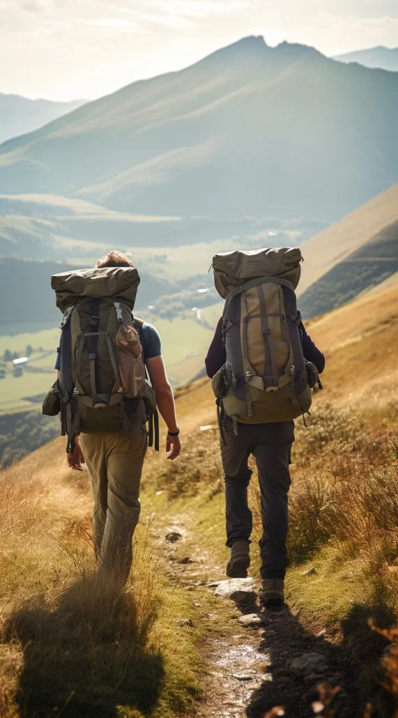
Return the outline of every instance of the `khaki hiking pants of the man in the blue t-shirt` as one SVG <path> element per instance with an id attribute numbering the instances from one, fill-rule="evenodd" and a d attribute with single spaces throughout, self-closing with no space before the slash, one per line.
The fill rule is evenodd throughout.
<path id="1" fill-rule="evenodd" d="M 80 446 L 94 493 L 96 554 L 104 568 L 126 582 L 132 538 L 139 520 L 139 483 L 147 452 L 147 434 L 81 434 Z"/>

